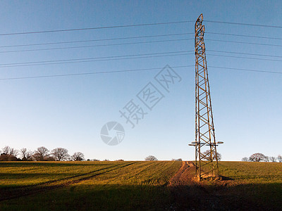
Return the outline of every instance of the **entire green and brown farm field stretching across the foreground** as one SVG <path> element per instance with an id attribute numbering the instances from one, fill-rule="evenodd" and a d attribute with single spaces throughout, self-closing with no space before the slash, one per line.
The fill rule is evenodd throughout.
<path id="1" fill-rule="evenodd" d="M 222 181 L 192 162 L 0 162 L 0 210 L 279 210 L 282 163 L 219 162 Z"/>

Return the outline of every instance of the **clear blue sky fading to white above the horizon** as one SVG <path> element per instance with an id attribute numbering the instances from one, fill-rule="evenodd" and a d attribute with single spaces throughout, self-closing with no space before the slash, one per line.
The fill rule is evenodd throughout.
<path id="1" fill-rule="evenodd" d="M 203 13 L 216 139 L 224 141 L 219 153 L 223 160 L 257 152 L 282 154 L 282 74 L 228 69 L 282 73 L 281 1 L 0 1 L 0 8 L 0 148 L 63 147 L 100 160 L 143 160 L 147 155 L 193 160 L 195 149 L 188 146 L 195 140 L 193 33 Z M 178 21 L 192 22 L 10 34 Z M 147 37 L 156 35 L 166 36 Z M 125 37 L 139 38 L 116 39 Z M 90 41 L 97 39 L 111 40 Z M 70 41 L 80 42 L 49 44 Z M 27 44 L 44 45 L 18 46 Z M 75 60 L 82 58 L 99 59 Z M 65 61 L 35 63 L 54 60 Z M 172 68 L 179 77 L 169 92 L 154 79 L 166 65 L 189 66 Z M 113 73 L 121 70 L 140 71 Z M 152 110 L 137 97 L 147 84 L 162 96 Z M 135 128 L 120 113 L 131 100 L 147 113 Z M 103 125 L 111 121 L 125 130 L 116 146 L 100 137 Z"/>

